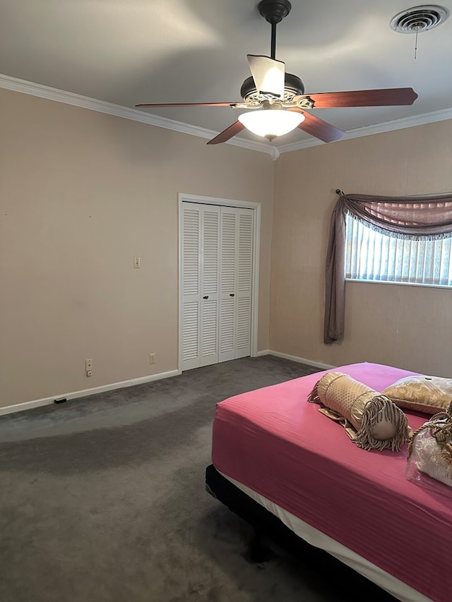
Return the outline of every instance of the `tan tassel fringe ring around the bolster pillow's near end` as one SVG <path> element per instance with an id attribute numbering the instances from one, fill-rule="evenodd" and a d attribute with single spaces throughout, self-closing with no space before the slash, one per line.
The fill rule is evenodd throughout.
<path id="1" fill-rule="evenodd" d="M 375 439 L 371 432 L 377 423 L 386 419 L 397 425 L 397 433 L 390 439 Z M 408 420 L 404 412 L 386 395 L 376 395 L 367 402 L 362 414 L 362 422 L 355 443 L 363 450 L 391 450 L 400 452 L 400 448 L 410 439 Z"/>

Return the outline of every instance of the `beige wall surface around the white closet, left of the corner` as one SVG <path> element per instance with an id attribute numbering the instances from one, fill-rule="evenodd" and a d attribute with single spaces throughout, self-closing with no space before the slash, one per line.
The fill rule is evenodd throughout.
<path id="1" fill-rule="evenodd" d="M 7 90 L 0 106 L 0 407 L 177 368 L 178 192 L 261 203 L 268 349 L 270 156 Z"/>

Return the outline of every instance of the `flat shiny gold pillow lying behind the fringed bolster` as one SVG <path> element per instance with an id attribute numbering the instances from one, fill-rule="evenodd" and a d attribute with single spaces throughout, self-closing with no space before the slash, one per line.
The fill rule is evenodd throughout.
<path id="1" fill-rule="evenodd" d="M 436 414 L 452 402 L 452 378 L 407 376 L 382 391 L 400 408 Z"/>

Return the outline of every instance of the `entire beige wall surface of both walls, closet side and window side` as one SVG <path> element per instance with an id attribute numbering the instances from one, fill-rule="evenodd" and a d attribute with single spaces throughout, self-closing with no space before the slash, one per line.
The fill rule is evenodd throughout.
<path id="1" fill-rule="evenodd" d="M 450 191 L 452 121 L 274 164 L 7 90 L 0 106 L 0 407 L 177 368 L 178 192 L 261 202 L 258 349 L 450 375 L 450 290 L 347 283 L 345 339 L 322 332 L 335 188 Z"/>

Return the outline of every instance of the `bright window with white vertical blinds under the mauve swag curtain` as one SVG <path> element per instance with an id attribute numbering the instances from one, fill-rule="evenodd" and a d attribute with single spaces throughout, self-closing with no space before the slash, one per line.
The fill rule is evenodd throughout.
<path id="1" fill-rule="evenodd" d="M 452 238 L 398 239 L 345 214 L 345 277 L 452 287 Z"/>

